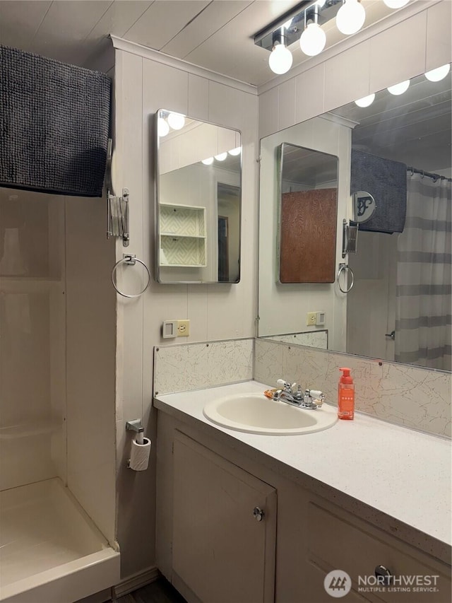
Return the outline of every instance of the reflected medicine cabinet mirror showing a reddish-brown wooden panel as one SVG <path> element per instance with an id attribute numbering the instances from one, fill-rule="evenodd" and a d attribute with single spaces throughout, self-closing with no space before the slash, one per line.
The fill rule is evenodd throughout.
<path id="1" fill-rule="evenodd" d="M 338 158 L 284 142 L 278 161 L 279 282 L 333 283 Z"/>

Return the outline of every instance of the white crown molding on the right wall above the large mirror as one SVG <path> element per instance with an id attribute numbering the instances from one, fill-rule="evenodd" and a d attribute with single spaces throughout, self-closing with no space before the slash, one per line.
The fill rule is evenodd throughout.
<path id="1" fill-rule="evenodd" d="M 350 35 L 349 37 L 345 38 L 345 40 L 341 40 L 335 45 L 327 48 L 326 50 L 323 50 L 323 52 L 321 52 L 321 54 L 317 54 L 316 57 L 310 57 L 304 62 L 293 66 L 290 71 L 287 71 L 287 74 L 284 74 L 282 76 L 275 76 L 266 83 L 261 84 L 261 86 L 257 87 L 258 95 L 261 95 L 264 92 L 268 92 L 268 90 L 271 90 L 276 86 L 280 86 L 280 84 L 284 83 L 285 81 L 289 81 L 292 78 L 299 76 L 300 74 L 304 74 L 305 71 L 309 71 L 309 69 L 312 69 L 313 67 L 325 63 L 329 59 L 336 57 L 341 52 L 345 52 L 345 50 L 357 46 L 361 42 L 369 40 L 369 38 L 374 37 L 375 35 L 378 35 L 379 33 L 385 30 L 388 30 L 394 25 L 398 25 L 398 23 L 406 21 L 407 19 L 417 15 L 418 13 L 427 11 L 427 8 L 431 8 L 435 4 L 439 4 L 441 1 L 444 0 L 415 0 L 414 2 L 412 2 L 412 4 L 408 4 L 407 6 L 400 8 L 398 11 L 391 13 L 391 15 L 380 19 L 380 21 L 372 23 L 371 25 L 369 25 L 369 27 L 360 30 L 354 35 Z"/>

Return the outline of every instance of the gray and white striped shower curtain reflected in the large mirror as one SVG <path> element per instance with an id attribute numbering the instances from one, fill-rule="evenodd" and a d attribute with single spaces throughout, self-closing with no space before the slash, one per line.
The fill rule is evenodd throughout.
<path id="1" fill-rule="evenodd" d="M 452 183 L 408 176 L 398 237 L 396 361 L 451 370 Z"/>

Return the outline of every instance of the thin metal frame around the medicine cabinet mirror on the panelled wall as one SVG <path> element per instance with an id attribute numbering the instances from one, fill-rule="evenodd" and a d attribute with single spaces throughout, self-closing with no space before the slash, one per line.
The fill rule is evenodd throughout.
<path id="1" fill-rule="evenodd" d="M 240 146 L 242 146 L 242 152 L 240 153 L 240 172 L 239 172 L 239 274 L 237 281 L 202 281 L 202 280 L 174 280 L 174 281 L 161 281 L 160 280 L 160 202 L 159 202 L 159 184 L 160 184 L 160 161 L 159 161 L 159 149 L 160 149 L 160 136 L 158 136 L 158 119 L 160 117 L 160 112 L 171 112 L 171 110 L 167 108 L 160 107 L 157 109 L 153 119 L 154 133 L 153 133 L 153 141 L 154 141 L 154 270 L 155 270 L 155 281 L 160 285 L 236 285 L 240 282 L 242 277 L 242 191 L 243 191 L 243 133 L 242 130 L 222 126 L 220 124 L 216 124 L 215 122 L 206 122 L 203 119 L 198 119 L 197 117 L 190 117 L 189 115 L 184 115 L 187 119 L 192 119 L 196 122 L 201 122 L 203 124 L 209 124 L 211 126 L 216 126 L 218 128 L 222 128 L 225 130 L 230 130 L 239 134 L 240 136 Z M 174 111 L 176 112 L 176 111 Z M 217 180 L 217 184 L 218 184 Z M 230 184 L 229 182 L 220 182 L 221 184 Z M 218 190 L 217 190 L 218 192 Z M 217 199 L 218 201 L 218 199 Z M 176 204 L 174 204 L 176 205 Z M 207 227 L 206 227 L 207 230 Z"/>

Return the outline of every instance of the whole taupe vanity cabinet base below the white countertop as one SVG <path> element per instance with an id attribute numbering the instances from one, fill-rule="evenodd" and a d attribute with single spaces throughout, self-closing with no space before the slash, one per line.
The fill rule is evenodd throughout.
<path id="1" fill-rule="evenodd" d="M 184 419 L 158 411 L 156 552 L 189 603 L 331 603 L 323 585 L 331 570 L 350 575 L 345 603 L 450 603 L 446 545 Z M 377 566 L 398 590 L 379 589 Z"/>

